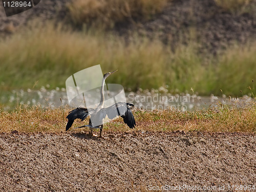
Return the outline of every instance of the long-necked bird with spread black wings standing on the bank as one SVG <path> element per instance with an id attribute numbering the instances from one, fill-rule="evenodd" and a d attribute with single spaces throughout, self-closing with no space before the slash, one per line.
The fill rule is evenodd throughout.
<path id="1" fill-rule="evenodd" d="M 123 122 L 127 124 L 127 126 L 131 129 L 135 128 L 136 122 L 132 113 L 131 108 L 134 107 L 133 104 L 131 103 L 125 103 L 125 102 L 118 102 L 115 103 L 112 106 L 104 108 L 104 83 L 106 78 L 114 74 L 117 70 L 112 71 L 110 73 L 106 73 L 103 76 L 102 83 L 101 83 L 101 89 L 100 89 L 100 103 L 95 109 L 88 109 L 84 107 L 77 107 L 76 109 L 73 109 L 70 111 L 67 115 L 68 123 L 66 125 L 66 131 L 71 128 L 72 124 L 74 123 L 75 119 L 79 118 L 81 121 L 86 119 L 88 116 L 90 116 L 89 119 L 89 125 L 83 125 L 77 128 L 82 128 L 82 127 L 89 127 L 92 136 L 97 136 L 93 134 L 93 130 L 95 129 L 100 129 L 100 135 L 99 137 L 102 137 L 102 129 L 103 129 L 103 119 L 108 115 L 108 118 L 113 119 L 117 116 L 121 116 L 123 118 Z M 97 126 L 93 126 L 92 120 L 91 119 L 96 119 L 96 124 Z"/>

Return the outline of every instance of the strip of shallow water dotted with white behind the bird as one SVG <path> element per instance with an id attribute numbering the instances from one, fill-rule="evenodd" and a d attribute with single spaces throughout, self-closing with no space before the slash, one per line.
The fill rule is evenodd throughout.
<path id="1" fill-rule="evenodd" d="M 199 95 L 175 94 L 160 91 L 126 92 L 126 102 L 133 103 L 135 107 L 144 110 L 172 109 L 179 111 L 193 111 L 215 107 L 219 103 L 231 103 L 244 106 L 252 101 L 250 97 L 227 98 L 225 95 L 219 98 L 214 95 L 201 97 Z M 42 87 L 40 90 L 13 90 L 0 94 L 0 104 L 4 110 L 12 110 L 20 104 L 27 106 L 40 105 L 42 107 L 60 107 L 69 105 L 65 88 L 48 90 Z"/>

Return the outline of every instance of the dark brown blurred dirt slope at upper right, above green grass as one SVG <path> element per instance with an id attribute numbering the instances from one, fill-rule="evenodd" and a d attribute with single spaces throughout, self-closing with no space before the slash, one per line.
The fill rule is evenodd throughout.
<path id="1" fill-rule="evenodd" d="M 200 52 L 217 54 L 233 43 L 244 44 L 256 38 L 255 10 L 255 0 L 236 13 L 221 9 L 214 0 L 173 0 L 151 20 L 120 23 L 116 31 L 129 38 L 132 31 L 160 37 L 174 50 L 180 42 L 189 44 L 191 40 L 199 43 Z"/>

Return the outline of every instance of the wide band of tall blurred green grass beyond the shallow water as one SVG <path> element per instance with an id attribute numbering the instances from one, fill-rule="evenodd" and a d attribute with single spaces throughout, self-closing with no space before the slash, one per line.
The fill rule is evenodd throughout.
<path id="1" fill-rule="evenodd" d="M 17 43 L 18 42 L 18 43 Z M 256 71 L 256 43 L 230 47 L 216 58 L 197 54 L 197 44 L 178 45 L 172 52 L 158 39 L 135 35 L 127 43 L 103 32 L 72 32 L 63 27 L 30 27 L 0 40 L 0 88 L 65 87 L 66 79 L 101 64 L 102 72 L 118 69 L 108 83 L 126 89 L 158 89 L 201 95 L 250 94 Z M 220 91 L 222 89 L 224 92 Z M 241 93 L 242 90 L 242 93 Z M 191 91 L 190 91 L 191 92 Z"/>

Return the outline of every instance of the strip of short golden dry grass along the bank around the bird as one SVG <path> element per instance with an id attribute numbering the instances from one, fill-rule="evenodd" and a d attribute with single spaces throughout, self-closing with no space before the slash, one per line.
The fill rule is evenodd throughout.
<path id="1" fill-rule="evenodd" d="M 202 131 L 202 132 L 256 132 L 255 101 L 246 107 L 236 104 L 219 104 L 212 109 L 200 111 L 154 110 L 143 111 L 134 109 L 136 130 L 141 131 Z M 41 108 L 19 105 L 15 110 L 0 110 L 0 132 L 63 132 L 65 131 L 66 115 L 70 108 Z M 77 119 L 73 127 L 88 124 L 88 119 L 81 122 Z M 82 129 L 88 131 L 88 129 Z M 104 131 L 131 131 L 120 117 L 104 125 Z M 72 130 L 71 132 L 80 130 Z"/>

